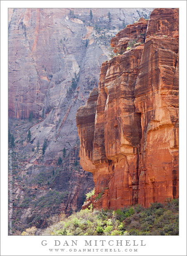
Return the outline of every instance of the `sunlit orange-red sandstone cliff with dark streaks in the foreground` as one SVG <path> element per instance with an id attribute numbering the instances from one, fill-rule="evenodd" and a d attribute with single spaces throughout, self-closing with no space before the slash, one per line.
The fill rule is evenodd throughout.
<path id="1" fill-rule="evenodd" d="M 140 44 L 125 51 L 132 39 Z M 76 115 L 80 163 L 95 183 L 92 202 L 118 209 L 176 198 L 178 9 L 154 9 L 149 22 L 127 26 L 111 46 L 124 53 L 102 64 L 92 130 L 84 111 L 89 101 Z"/>

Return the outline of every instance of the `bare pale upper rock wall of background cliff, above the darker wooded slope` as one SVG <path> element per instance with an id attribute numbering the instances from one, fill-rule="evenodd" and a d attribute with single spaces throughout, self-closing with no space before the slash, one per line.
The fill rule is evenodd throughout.
<path id="1" fill-rule="evenodd" d="M 98 85 L 111 37 L 151 10 L 93 8 L 90 21 L 84 8 L 9 9 L 8 113 L 38 119 L 31 141 L 47 139 L 46 164 L 78 141 L 76 112 Z"/>

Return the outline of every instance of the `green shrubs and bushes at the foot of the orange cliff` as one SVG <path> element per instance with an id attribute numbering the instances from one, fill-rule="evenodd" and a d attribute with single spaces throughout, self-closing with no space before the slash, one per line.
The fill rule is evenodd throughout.
<path id="1" fill-rule="evenodd" d="M 62 218 L 40 235 L 178 235 L 178 206 L 178 199 L 168 199 L 149 208 L 85 209 Z"/>

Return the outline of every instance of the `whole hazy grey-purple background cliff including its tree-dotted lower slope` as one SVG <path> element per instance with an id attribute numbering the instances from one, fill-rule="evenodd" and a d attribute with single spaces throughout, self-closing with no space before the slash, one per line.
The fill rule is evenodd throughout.
<path id="1" fill-rule="evenodd" d="M 141 16 L 149 17 L 151 10 L 94 8 L 90 21 L 90 9 L 84 8 L 9 9 L 9 128 L 16 141 L 14 207 L 19 211 L 14 219 L 21 219 L 14 226 L 26 228 L 32 223 L 42 227 L 48 214 L 60 211 L 70 214 L 80 209 L 85 193 L 92 190 L 94 184 L 92 174 L 79 166 L 77 109 L 86 103 L 90 90 L 98 85 L 111 37 Z M 89 104 L 95 104 L 96 97 L 97 89 Z M 92 116 L 92 109 L 88 107 L 89 111 L 94 123 L 95 113 Z M 33 121 L 29 123 L 31 113 Z M 31 142 L 27 141 L 28 129 Z M 47 148 L 42 154 L 45 139 Z M 87 147 L 91 137 L 89 139 Z M 66 157 L 63 157 L 64 147 Z M 92 149 L 89 150 L 91 154 Z M 62 164 L 57 166 L 59 157 Z M 43 180 L 38 184 L 41 176 Z M 62 203 L 57 208 L 54 205 L 55 209 L 53 205 L 38 209 L 36 201 L 46 198 L 50 188 L 66 192 Z M 32 200 L 26 204 L 23 201 L 28 196 Z"/>

